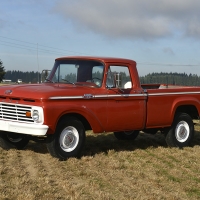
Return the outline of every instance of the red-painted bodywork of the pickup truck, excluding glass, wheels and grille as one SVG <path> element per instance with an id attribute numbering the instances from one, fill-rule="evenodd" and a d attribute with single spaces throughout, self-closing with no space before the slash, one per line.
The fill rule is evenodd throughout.
<path id="1" fill-rule="evenodd" d="M 155 84 L 143 85 L 146 88 L 144 91 L 135 61 L 98 57 L 63 57 L 56 61 L 68 59 L 101 62 L 105 67 L 102 86 L 50 82 L 8 85 L 0 87 L 0 101 L 43 107 L 44 124 L 49 126 L 47 134 L 55 132 L 57 123 L 64 115 L 78 115 L 81 120 L 84 118 L 95 133 L 168 127 L 177 109 L 184 110 L 184 106 L 192 106 L 197 110 L 197 114 L 190 111 L 193 117 L 199 116 L 200 87 L 162 85 L 165 88 L 159 89 L 160 84 Z M 128 67 L 133 85 L 131 89 L 106 87 L 110 65 Z M 54 73 L 55 69 L 49 79 Z M 8 90 L 12 90 L 12 93 L 5 93 Z"/>

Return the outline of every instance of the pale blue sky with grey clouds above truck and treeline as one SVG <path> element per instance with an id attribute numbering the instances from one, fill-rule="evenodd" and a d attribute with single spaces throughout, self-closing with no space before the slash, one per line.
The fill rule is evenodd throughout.
<path id="1" fill-rule="evenodd" d="M 122 57 L 142 76 L 200 76 L 199 10 L 199 0 L 0 0 L 0 59 L 41 72 L 60 56 Z"/>

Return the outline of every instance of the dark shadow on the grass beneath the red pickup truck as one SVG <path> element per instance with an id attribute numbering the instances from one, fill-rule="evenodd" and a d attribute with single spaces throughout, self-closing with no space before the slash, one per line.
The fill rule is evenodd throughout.
<path id="1" fill-rule="evenodd" d="M 200 131 L 195 131 L 192 146 L 200 145 Z M 89 134 L 86 136 L 85 149 L 83 156 L 94 156 L 95 154 L 105 153 L 109 150 L 116 152 L 134 151 L 136 149 L 147 148 L 168 148 L 165 137 L 161 133 L 155 135 L 140 133 L 134 141 L 118 140 L 114 134 Z M 45 143 L 29 142 L 26 150 L 39 154 L 48 154 Z"/>

